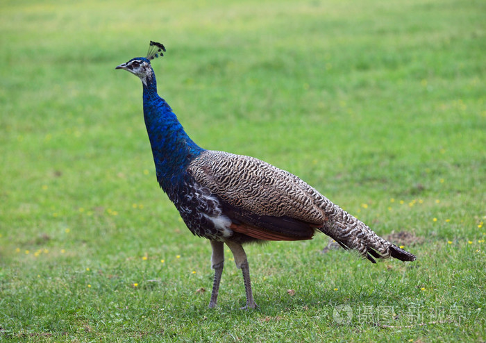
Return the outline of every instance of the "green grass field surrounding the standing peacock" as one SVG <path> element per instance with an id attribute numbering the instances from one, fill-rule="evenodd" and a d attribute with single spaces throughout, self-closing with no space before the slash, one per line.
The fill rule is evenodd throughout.
<path id="1" fill-rule="evenodd" d="M 0 341 L 484 341 L 485 10 L 3 1 Z M 167 47 L 159 93 L 202 147 L 414 234 L 417 262 L 321 253 L 323 236 L 252 245 L 260 308 L 239 310 L 227 254 L 209 310 L 210 245 L 158 189 L 140 81 L 114 69 L 149 40 Z"/>

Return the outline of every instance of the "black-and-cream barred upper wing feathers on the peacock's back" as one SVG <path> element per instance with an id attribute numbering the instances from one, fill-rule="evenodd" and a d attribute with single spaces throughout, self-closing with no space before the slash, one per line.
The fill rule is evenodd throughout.
<path id="1" fill-rule="evenodd" d="M 315 226 L 326 220 L 308 192 L 309 185 L 262 160 L 205 151 L 191 162 L 189 171 L 198 183 L 235 208 L 255 215 L 292 217 Z"/>

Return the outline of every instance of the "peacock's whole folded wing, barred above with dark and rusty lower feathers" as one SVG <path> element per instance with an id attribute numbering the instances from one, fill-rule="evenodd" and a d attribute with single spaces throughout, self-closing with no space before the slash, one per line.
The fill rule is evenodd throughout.
<path id="1" fill-rule="evenodd" d="M 262 240 L 305 240 L 326 220 L 312 187 L 257 158 L 204 151 L 188 171 L 221 201 L 234 231 Z"/>

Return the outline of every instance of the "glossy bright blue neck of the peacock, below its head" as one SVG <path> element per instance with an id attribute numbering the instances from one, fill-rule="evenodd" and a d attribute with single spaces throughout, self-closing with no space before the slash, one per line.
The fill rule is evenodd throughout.
<path id="1" fill-rule="evenodd" d="M 156 164 L 157 181 L 164 192 L 176 190 L 183 182 L 187 165 L 204 151 L 185 133 L 169 104 L 157 94 L 151 71 L 144 86 L 144 119 Z"/>

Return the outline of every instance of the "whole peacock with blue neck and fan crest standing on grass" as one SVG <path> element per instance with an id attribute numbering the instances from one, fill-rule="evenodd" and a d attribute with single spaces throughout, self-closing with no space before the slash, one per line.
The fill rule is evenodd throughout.
<path id="1" fill-rule="evenodd" d="M 115 69 L 131 72 L 142 81 L 144 120 L 157 181 L 187 228 L 212 246 L 215 276 L 210 308 L 217 305 L 224 244 L 242 270 L 244 308 L 256 307 L 243 249 L 246 243 L 310 240 L 320 231 L 373 263 L 375 258 L 415 260 L 412 253 L 379 237 L 290 172 L 257 158 L 199 147 L 158 95 L 151 60 L 165 51 L 163 44 L 150 42 L 146 57 L 132 58 Z"/>

